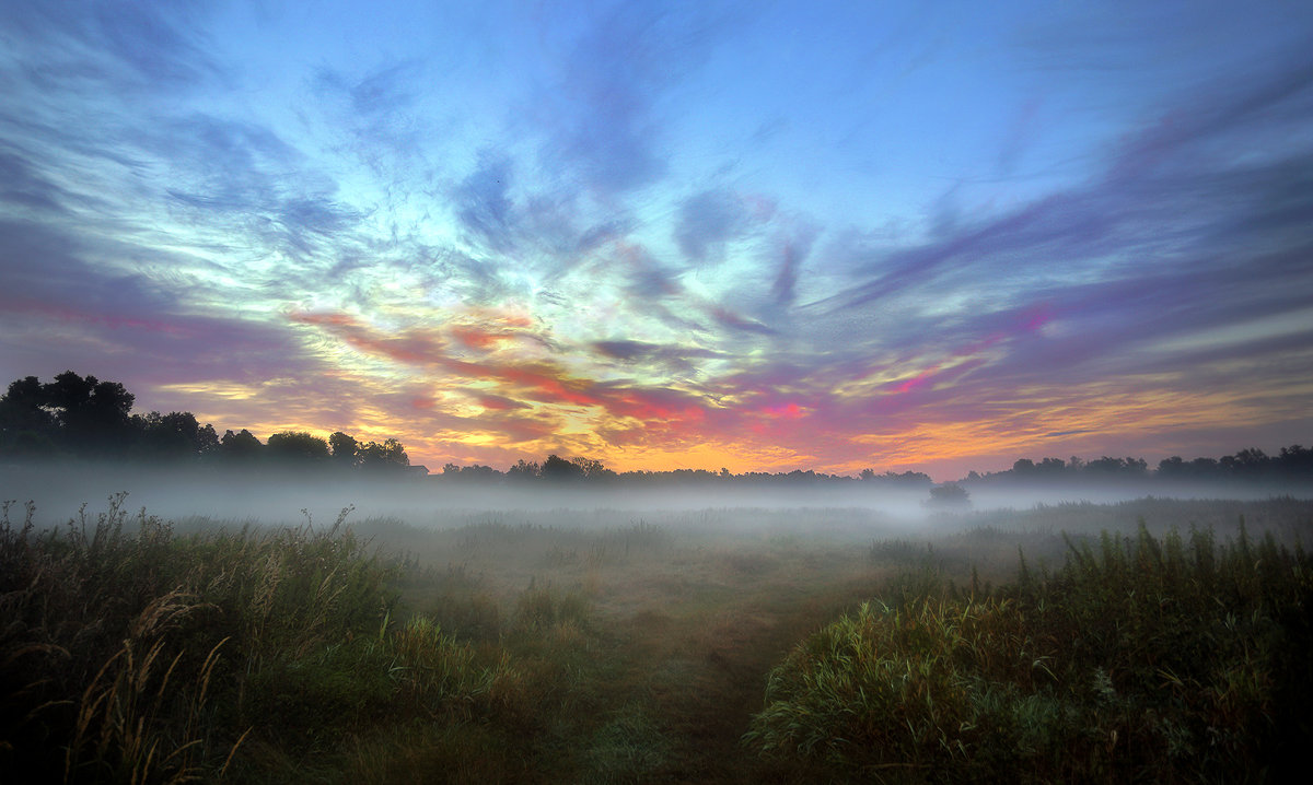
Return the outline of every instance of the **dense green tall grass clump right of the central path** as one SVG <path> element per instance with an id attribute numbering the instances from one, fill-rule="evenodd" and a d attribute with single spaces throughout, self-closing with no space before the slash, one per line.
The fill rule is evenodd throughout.
<path id="1" fill-rule="evenodd" d="M 834 776 L 1249 781 L 1310 738 L 1301 549 L 1243 528 L 1073 541 L 990 595 L 863 604 L 776 667 L 744 740 Z"/>

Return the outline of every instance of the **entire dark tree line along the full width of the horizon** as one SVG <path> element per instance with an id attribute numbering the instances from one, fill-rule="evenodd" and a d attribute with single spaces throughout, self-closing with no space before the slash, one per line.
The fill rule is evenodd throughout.
<path id="1" fill-rule="evenodd" d="M 0 457 L 43 458 L 130 458 L 142 461 L 202 462 L 230 466 L 281 463 L 330 466 L 364 470 L 399 470 L 410 466 L 406 448 L 395 438 L 382 442 L 357 441 L 336 432 L 327 440 L 301 431 L 284 431 L 261 442 L 253 433 L 226 431 L 219 436 L 213 425 L 201 425 L 192 412 L 131 414 L 135 396 L 118 382 L 100 381 L 64 371 L 53 382 L 37 377 L 17 379 L 0 398 Z M 857 477 L 811 470 L 788 473 L 727 469 L 676 469 L 670 471 L 616 473 L 597 459 L 562 458 L 551 454 L 542 462 L 520 459 L 506 471 L 478 463 L 446 463 L 446 482 L 590 482 L 590 483 L 671 483 L 671 484 L 831 484 L 861 483 L 872 487 L 924 490 L 934 486 L 920 471 L 876 473 L 864 469 Z M 1243 449 L 1222 458 L 1163 458 L 1150 469 L 1144 458 L 1078 457 L 1018 459 L 1010 470 L 969 473 L 958 483 L 1035 482 L 1310 482 L 1313 449 L 1300 445 L 1281 448 L 1276 456 L 1259 449 Z"/>

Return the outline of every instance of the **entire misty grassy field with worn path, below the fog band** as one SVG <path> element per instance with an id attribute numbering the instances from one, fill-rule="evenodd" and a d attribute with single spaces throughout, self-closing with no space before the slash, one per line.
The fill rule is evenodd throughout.
<path id="1" fill-rule="evenodd" d="M 357 520 L 358 517 L 358 520 Z M 0 781 L 1281 780 L 1313 503 L 0 524 Z"/>

